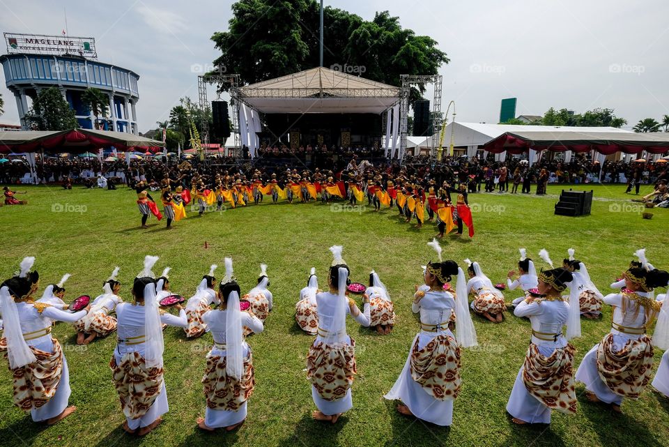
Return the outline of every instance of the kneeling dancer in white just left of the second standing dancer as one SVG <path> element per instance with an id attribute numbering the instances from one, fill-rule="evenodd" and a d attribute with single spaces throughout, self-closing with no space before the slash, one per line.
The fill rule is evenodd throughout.
<path id="1" fill-rule="evenodd" d="M 89 314 L 73 325 L 77 330 L 77 344 L 89 344 L 95 338 L 106 337 L 116 331 L 116 318 L 109 314 L 116 310 L 118 303 L 123 302 L 118 296 L 121 290 L 121 282 L 116 280 L 118 271 L 118 267 L 114 268 L 112 275 L 102 285 L 103 293 L 93 300 Z"/>

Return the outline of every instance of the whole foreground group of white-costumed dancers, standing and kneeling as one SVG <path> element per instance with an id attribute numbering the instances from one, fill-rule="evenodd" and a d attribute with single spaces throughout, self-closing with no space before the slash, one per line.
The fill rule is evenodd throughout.
<path id="1" fill-rule="evenodd" d="M 452 425 L 453 403 L 463 386 L 461 349 L 477 345 L 470 307 L 482 315 L 499 315 L 482 310 L 484 303 L 476 304 L 477 299 L 495 301 L 491 296 L 499 295 L 476 262 L 466 268 L 471 276 L 467 281 L 463 268 L 442 259 L 438 241 L 429 245 L 436 251 L 438 262 L 424 266 L 424 284 L 416 287 L 411 305 L 412 312 L 420 315 L 420 331 L 385 398 L 399 401 L 397 411 L 401 414 L 446 426 Z M 333 262 L 328 271 L 328 289 L 318 289 L 312 270 L 295 317 L 300 327 L 316 335 L 307 355 L 307 378 L 316 405 L 313 417 L 336 423 L 353 407 L 351 388 L 357 371 L 355 340 L 346 333 L 346 317 L 387 333 L 394 310 L 385 285 L 374 272 L 360 310 L 348 296 L 351 271 L 342 258 L 342 247 L 335 245 L 330 251 Z M 610 404 L 614 411 L 620 411 L 624 398 L 638 399 L 650 382 L 654 347 L 669 347 L 669 306 L 663 305 L 666 294 L 654 296 L 655 288 L 667 287 L 669 273 L 649 264 L 645 250 L 636 252 L 640 260 L 612 285 L 621 287 L 620 291 L 602 298 L 613 307 L 609 333 L 585 355 L 574 374 L 575 349 L 569 340 L 580 336 L 580 314 L 593 312 L 590 307 L 583 312 L 580 297 L 597 290 L 592 290 L 594 286 L 585 279 L 583 263 L 578 269 L 551 268 L 532 278 L 536 273 L 533 263 L 521 253 L 521 275 L 515 280 L 509 278 L 508 284 L 509 289 L 520 287 L 525 291 L 515 303 L 514 315 L 530 319 L 532 336 L 507 404 L 512 421 L 550 423 L 553 410 L 574 414 L 575 381 L 585 384 L 589 400 Z M 549 259 L 547 253 L 542 257 Z M 33 421 L 51 425 L 76 409 L 68 406 L 68 363 L 58 340 L 51 335 L 55 321 L 66 321 L 75 325 L 77 341 L 82 343 L 93 340 L 91 333 L 105 336 L 116 331 L 117 344 L 109 367 L 126 418 L 126 432 L 140 436 L 151 432 L 168 410 L 162 358 L 165 326 L 182 328 L 188 338 L 206 332 L 213 337 L 213 347 L 203 364 L 206 412 L 198 419 L 198 427 L 206 431 L 235 430 L 244 423 L 247 401 L 255 386 L 252 349 L 245 337 L 263 331 L 272 308 L 266 266 L 261 269 L 258 285 L 240 299 L 232 259 L 226 258 L 224 278 L 218 282 L 214 277 L 216 266 L 212 266 L 185 308 L 176 304 L 178 315 L 172 315 L 159 305 L 172 292 L 169 270 L 160 277 L 153 273 L 157 260 L 151 256 L 144 259 L 144 268 L 132 285 L 132 302 L 118 296 L 116 268 L 105 281 L 103 294 L 78 312 L 65 310 L 62 301 L 67 278 L 49 285 L 45 299 L 33 301 L 39 283 L 37 271 L 31 271 L 33 257 L 26 257 L 20 272 L 2 282 L 0 350 L 13 371 L 13 402 L 30 411 Z M 453 279 L 455 287 L 449 286 Z M 475 295 L 471 305 L 468 292 Z M 376 317 L 371 315 L 373 307 Z M 109 315 L 112 312 L 116 317 Z M 497 317 L 493 319 L 497 321 Z M 647 332 L 654 321 L 651 338 Z M 563 333 L 564 326 L 567 330 Z M 663 355 L 652 384 L 669 397 L 669 351 Z"/>

